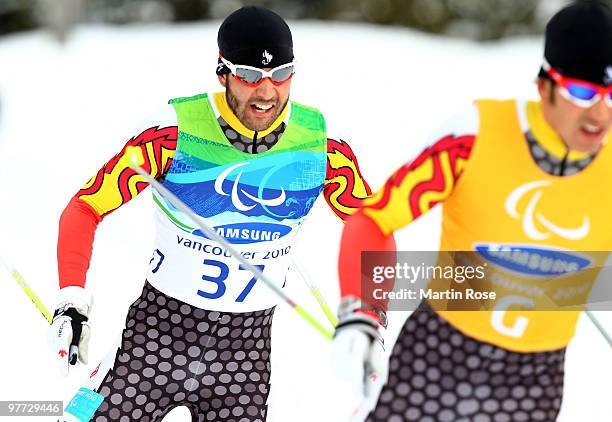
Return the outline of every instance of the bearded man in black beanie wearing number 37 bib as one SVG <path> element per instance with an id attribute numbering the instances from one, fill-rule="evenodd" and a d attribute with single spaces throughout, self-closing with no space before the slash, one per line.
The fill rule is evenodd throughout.
<path id="1" fill-rule="evenodd" d="M 289 101 L 295 64 L 283 19 L 243 7 L 223 22 L 218 42 L 226 90 L 170 100 L 126 137 L 62 214 L 50 337 L 65 375 L 87 361 L 85 275 L 97 224 L 147 186 L 122 159 L 134 149 L 144 171 L 279 289 L 316 198 L 323 193 L 344 220 L 370 194 L 348 144 L 328 136 L 323 114 Z M 153 197 L 156 240 L 142 295 L 63 419 L 160 421 L 184 405 L 194 422 L 263 422 L 279 297 L 163 195 Z"/>

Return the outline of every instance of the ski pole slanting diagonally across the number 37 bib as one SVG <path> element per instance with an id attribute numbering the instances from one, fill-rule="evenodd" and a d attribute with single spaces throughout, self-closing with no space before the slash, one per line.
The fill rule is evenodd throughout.
<path id="1" fill-rule="evenodd" d="M 151 177 L 150 174 L 145 172 L 140 164 L 144 162 L 144 158 L 142 157 L 142 152 L 138 147 L 128 147 L 130 151 L 126 150 L 126 155 L 124 159 L 128 160 L 129 166 L 136 171 L 139 175 L 144 177 L 149 184 L 155 188 L 158 192 L 160 192 L 170 203 L 176 207 L 178 210 L 183 212 L 186 216 L 189 217 L 193 223 L 208 236 L 209 239 L 213 239 L 220 245 L 222 245 L 238 262 L 240 262 L 246 269 L 251 271 L 258 280 L 261 280 L 266 286 L 268 286 L 274 293 L 276 293 L 285 303 L 287 303 L 290 307 L 293 308 L 295 312 L 298 313 L 306 322 L 308 322 L 314 329 L 316 329 L 320 334 L 322 334 L 328 340 L 333 338 L 333 334 L 331 331 L 326 329 L 319 321 L 316 320 L 308 311 L 299 306 L 293 300 L 287 296 L 285 292 L 283 292 L 276 284 L 274 284 L 266 275 L 264 275 L 259 268 L 255 267 L 249 261 L 247 261 L 238 251 L 236 251 L 233 246 L 229 242 L 227 242 L 224 238 L 219 236 L 213 229 L 208 227 L 187 205 L 183 203 L 180 199 L 178 199 L 172 192 L 166 189 L 161 183 Z"/>

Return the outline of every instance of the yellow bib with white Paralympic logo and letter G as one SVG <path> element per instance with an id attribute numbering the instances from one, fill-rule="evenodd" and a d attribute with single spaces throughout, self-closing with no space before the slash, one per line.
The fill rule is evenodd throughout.
<path id="1" fill-rule="evenodd" d="M 530 104 L 534 105 L 538 106 Z M 443 205 L 441 250 L 505 249 L 514 250 L 517 256 L 520 252 L 526 259 L 530 254 L 540 259 L 561 251 L 570 261 L 590 260 L 587 268 L 602 265 L 606 253 L 574 251 L 612 248 L 611 147 L 604 146 L 575 175 L 552 176 L 531 157 L 516 101 L 480 100 L 477 106 L 480 128 L 474 149 Z M 610 137 L 608 134 L 608 141 Z M 505 259 L 511 261 L 509 255 Z M 500 271 L 505 270 L 501 265 Z M 581 277 L 584 290 L 591 288 L 596 274 L 596 270 L 587 270 L 587 276 Z M 525 309 L 526 299 L 521 297 L 520 292 L 498 296 L 496 311 L 439 313 L 463 333 L 510 350 L 565 347 L 574 335 L 579 311 L 516 310 Z M 537 304 L 533 308 L 542 309 Z"/>

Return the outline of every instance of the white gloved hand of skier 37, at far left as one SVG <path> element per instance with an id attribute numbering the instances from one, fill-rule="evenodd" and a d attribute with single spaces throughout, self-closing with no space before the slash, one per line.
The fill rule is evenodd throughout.
<path id="1" fill-rule="evenodd" d="M 48 341 L 62 376 L 68 375 L 68 368 L 77 360 L 87 364 L 90 310 L 91 296 L 84 288 L 60 290 Z"/>

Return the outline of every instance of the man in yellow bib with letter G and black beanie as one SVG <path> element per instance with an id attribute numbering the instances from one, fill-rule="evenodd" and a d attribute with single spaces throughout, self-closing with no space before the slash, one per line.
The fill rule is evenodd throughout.
<path id="1" fill-rule="evenodd" d="M 334 355 L 340 375 L 366 396 L 358 412 L 366 421 L 557 419 L 565 350 L 608 258 L 584 251 L 612 250 L 607 6 L 577 2 L 550 20 L 537 85 L 540 101 L 475 101 L 348 218 Z M 377 396 L 385 293 L 401 292 L 380 279 L 362 288 L 361 253 L 395 253 L 393 233 L 438 202 L 440 249 L 451 254 L 439 254 L 431 280 L 422 277 L 426 289 L 398 279 L 416 293 L 417 310 Z M 462 259 L 442 261 L 448 256 Z M 484 277 L 447 279 L 443 262 L 457 271 L 471 264 Z M 487 299 L 470 299 L 470 290 Z"/>

